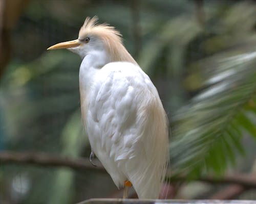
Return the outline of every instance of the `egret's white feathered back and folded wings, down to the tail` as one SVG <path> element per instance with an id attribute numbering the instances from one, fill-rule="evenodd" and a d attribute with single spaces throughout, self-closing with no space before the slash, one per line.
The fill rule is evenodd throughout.
<path id="1" fill-rule="evenodd" d="M 82 107 L 92 150 L 118 188 L 158 198 L 168 161 L 166 115 L 150 78 L 128 62 L 106 64 Z"/>

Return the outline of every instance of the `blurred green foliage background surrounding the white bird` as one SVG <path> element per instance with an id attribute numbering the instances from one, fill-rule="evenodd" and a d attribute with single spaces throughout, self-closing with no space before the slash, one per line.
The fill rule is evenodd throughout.
<path id="1" fill-rule="evenodd" d="M 256 199 L 256 1 L 2 0 L 0 10 L 0 203 L 122 196 L 104 172 L 1 159 L 89 157 L 81 59 L 46 49 L 76 39 L 94 15 L 123 34 L 159 91 L 172 130 L 168 197 Z"/>

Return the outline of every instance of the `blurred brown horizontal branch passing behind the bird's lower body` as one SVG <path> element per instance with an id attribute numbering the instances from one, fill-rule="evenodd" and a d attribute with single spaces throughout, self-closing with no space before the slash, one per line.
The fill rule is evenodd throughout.
<path id="1" fill-rule="evenodd" d="M 33 164 L 42 167 L 68 167 L 74 170 L 94 170 L 106 172 L 99 161 L 95 161 L 97 167 L 94 167 L 89 159 L 73 159 L 61 157 L 53 154 L 41 152 L 13 152 L 0 151 L 0 165 L 3 164 Z M 171 176 L 171 183 L 193 181 L 188 180 L 185 176 Z M 233 174 L 224 177 L 199 177 L 194 181 L 207 182 L 210 184 L 237 184 L 245 188 L 256 188 L 256 177 L 254 175 Z"/>

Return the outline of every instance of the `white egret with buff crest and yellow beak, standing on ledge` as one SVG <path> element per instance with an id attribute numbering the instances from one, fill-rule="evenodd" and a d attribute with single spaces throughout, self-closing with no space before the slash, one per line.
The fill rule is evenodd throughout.
<path id="1" fill-rule="evenodd" d="M 82 121 L 92 154 L 123 197 L 133 185 L 139 198 L 158 198 L 169 162 L 168 125 L 156 87 L 122 44 L 121 34 L 87 17 L 68 48 L 82 58 Z M 150 57 L 150 56 L 148 56 Z"/>

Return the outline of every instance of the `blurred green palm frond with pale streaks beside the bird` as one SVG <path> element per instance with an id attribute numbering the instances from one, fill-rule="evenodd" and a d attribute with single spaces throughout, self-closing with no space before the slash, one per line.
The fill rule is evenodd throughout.
<path id="1" fill-rule="evenodd" d="M 244 154 L 244 130 L 256 137 L 247 115 L 253 110 L 245 109 L 256 94 L 256 52 L 228 55 L 194 64 L 204 70 L 207 88 L 174 115 L 170 156 L 176 171 L 222 173 L 235 163 L 236 150 Z"/>

